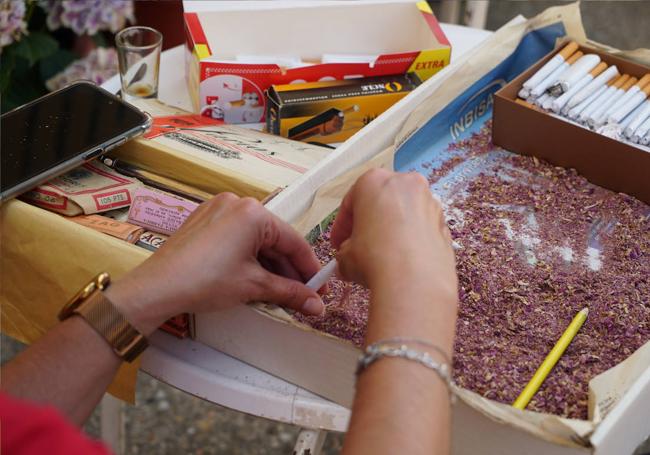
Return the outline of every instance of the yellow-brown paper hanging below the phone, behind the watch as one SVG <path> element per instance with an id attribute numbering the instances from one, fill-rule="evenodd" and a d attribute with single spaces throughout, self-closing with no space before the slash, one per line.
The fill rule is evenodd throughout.
<path id="1" fill-rule="evenodd" d="M 107 271 L 118 279 L 151 254 L 18 200 L 2 205 L 0 223 L 0 322 L 3 333 L 24 343 L 54 326 L 93 276 Z M 108 391 L 133 403 L 138 367 L 137 360 L 124 363 Z"/>

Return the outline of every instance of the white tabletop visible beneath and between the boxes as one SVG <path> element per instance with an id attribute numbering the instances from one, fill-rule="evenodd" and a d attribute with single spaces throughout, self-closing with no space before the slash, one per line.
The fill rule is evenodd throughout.
<path id="1" fill-rule="evenodd" d="M 492 34 L 485 30 L 442 24 L 452 45 L 452 62 Z M 191 110 L 185 84 L 183 46 L 161 55 L 159 99 Z M 434 76 L 435 77 L 435 76 Z M 117 92 L 119 77 L 104 88 Z M 345 431 L 350 411 L 282 379 L 192 340 L 166 333 L 151 337 L 142 370 L 189 394 L 228 408 L 301 427 Z"/>

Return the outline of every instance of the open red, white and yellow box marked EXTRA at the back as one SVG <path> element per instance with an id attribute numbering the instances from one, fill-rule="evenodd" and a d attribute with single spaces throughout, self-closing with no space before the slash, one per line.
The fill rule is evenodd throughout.
<path id="1" fill-rule="evenodd" d="M 449 63 L 449 41 L 426 1 L 268 3 L 186 9 L 186 78 L 196 113 L 264 122 L 264 92 L 273 84 L 408 72 L 424 81 Z"/>

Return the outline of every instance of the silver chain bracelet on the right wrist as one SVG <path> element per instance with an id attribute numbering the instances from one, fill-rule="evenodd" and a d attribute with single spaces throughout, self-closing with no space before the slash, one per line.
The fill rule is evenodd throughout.
<path id="1" fill-rule="evenodd" d="M 442 381 L 447 386 L 447 390 L 449 391 L 449 394 L 452 397 L 452 402 L 453 402 L 454 396 L 453 396 L 450 365 L 448 363 L 436 362 L 435 360 L 433 360 L 433 358 L 431 358 L 428 352 L 410 349 L 408 346 L 404 344 L 397 347 L 392 347 L 388 345 L 390 343 L 395 342 L 395 340 L 401 340 L 401 339 L 378 341 L 376 343 L 369 345 L 365 349 L 364 353 L 359 357 L 359 362 L 357 363 L 357 372 L 356 372 L 357 376 L 361 374 L 363 371 L 365 371 L 366 368 L 368 368 L 375 361 L 384 357 L 399 357 L 399 358 L 411 360 L 435 371 L 438 377 L 440 377 L 440 379 L 442 379 Z M 413 342 L 428 345 L 428 342 L 422 342 L 421 340 L 416 340 Z M 440 348 L 438 347 L 435 348 L 436 350 L 441 351 L 444 354 L 444 351 L 442 351 Z M 447 357 L 447 355 L 444 354 L 444 357 Z"/>

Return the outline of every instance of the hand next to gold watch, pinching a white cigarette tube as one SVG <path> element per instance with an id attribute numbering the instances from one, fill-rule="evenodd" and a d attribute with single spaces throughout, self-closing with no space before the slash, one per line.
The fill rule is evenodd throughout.
<path id="1" fill-rule="evenodd" d="M 202 204 L 165 245 L 107 290 L 143 334 L 169 317 L 253 301 L 320 314 L 303 283 L 320 269 L 311 246 L 252 198 L 222 193 Z"/>

